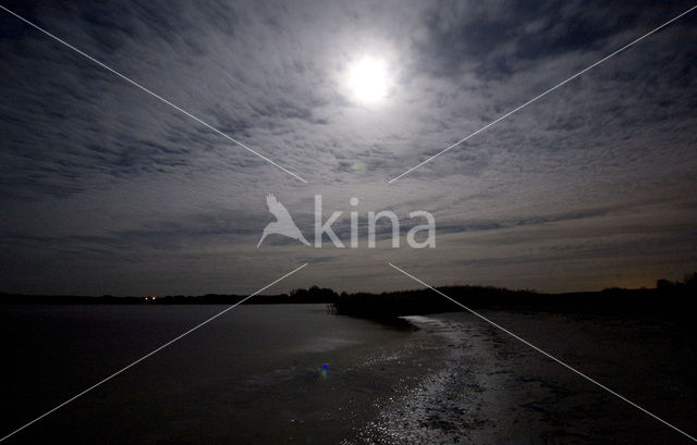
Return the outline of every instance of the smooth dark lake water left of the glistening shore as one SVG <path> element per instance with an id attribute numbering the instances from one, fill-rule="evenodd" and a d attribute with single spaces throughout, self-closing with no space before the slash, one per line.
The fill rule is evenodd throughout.
<path id="1" fill-rule="evenodd" d="M 1 307 L 2 399 L 12 407 L 2 432 L 223 308 Z M 317 443 L 348 435 L 393 383 L 363 373 L 390 361 L 408 335 L 328 314 L 323 305 L 241 306 L 13 441 Z"/>

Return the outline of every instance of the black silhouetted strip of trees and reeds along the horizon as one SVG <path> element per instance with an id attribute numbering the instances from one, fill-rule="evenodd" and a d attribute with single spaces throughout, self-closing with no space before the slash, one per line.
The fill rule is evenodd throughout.
<path id="1" fill-rule="evenodd" d="M 600 292 L 543 294 L 490 286 L 445 286 L 439 291 L 470 309 L 545 311 L 592 314 L 682 314 L 692 317 L 697 299 L 697 272 L 683 282 L 659 280 L 656 288 L 608 288 Z M 101 297 L 1 294 L 0 304 L 101 304 L 101 305 L 234 305 L 244 295 Z M 463 310 L 431 289 L 398 291 L 381 294 L 337 294 L 313 286 L 290 294 L 257 295 L 245 305 L 328 304 L 339 314 L 384 322 L 401 316 Z"/>

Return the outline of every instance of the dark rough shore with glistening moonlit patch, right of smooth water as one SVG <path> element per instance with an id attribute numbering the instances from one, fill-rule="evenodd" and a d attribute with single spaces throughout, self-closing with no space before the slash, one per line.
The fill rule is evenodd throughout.
<path id="1" fill-rule="evenodd" d="M 672 342 L 686 326 L 612 317 L 486 314 L 686 431 L 697 427 L 689 416 L 697 400 L 689 373 L 695 345 Z M 444 339 L 444 357 L 346 444 L 682 443 L 665 425 L 467 313 L 411 319 Z M 665 388 L 664 381 L 673 387 Z"/>

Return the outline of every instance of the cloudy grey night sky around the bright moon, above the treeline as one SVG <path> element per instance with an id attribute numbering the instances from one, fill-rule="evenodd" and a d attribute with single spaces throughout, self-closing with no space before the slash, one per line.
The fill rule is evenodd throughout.
<path id="1" fill-rule="evenodd" d="M 0 291 L 152 295 L 313 284 L 653 286 L 697 270 L 697 10 L 388 183 L 694 4 L 10 1 L 0 11 Z M 387 73 L 356 97 L 362 60 Z M 359 248 L 271 236 L 314 195 Z M 359 199 L 354 209 L 348 200 Z M 392 210 L 367 247 L 368 211 Z M 409 248 L 414 210 L 437 247 Z"/>

